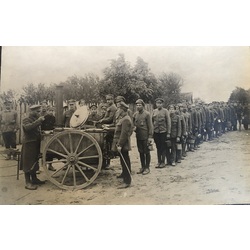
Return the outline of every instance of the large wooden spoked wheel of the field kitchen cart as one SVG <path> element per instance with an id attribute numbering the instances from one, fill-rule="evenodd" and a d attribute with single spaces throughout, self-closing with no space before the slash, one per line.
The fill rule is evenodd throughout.
<path id="1" fill-rule="evenodd" d="M 44 148 L 43 168 L 48 179 L 61 189 L 78 190 L 89 186 L 101 167 L 101 148 L 95 138 L 85 132 L 60 132 Z"/>

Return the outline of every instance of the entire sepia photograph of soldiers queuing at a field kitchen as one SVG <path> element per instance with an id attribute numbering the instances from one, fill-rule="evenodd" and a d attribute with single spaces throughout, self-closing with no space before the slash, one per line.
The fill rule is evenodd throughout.
<path id="1" fill-rule="evenodd" d="M 250 47 L 2 46 L 0 203 L 250 202 Z"/>

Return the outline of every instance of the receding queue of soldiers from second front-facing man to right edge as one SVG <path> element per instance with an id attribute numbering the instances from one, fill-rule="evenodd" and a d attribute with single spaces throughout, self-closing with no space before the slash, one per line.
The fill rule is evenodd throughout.
<path id="1" fill-rule="evenodd" d="M 156 100 L 157 109 L 152 117 L 158 156 L 156 168 L 181 163 L 187 152 L 194 152 L 202 142 L 213 140 L 228 131 L 236 131 L 237 121 L 241 129 L 239 105 L 225 102 L 179 103 L 169 105 L 167 110 L 162 107 L 163 102 L 161 98 Z M 245 119 L 249 117 L 249 108 L 243 114 Z M 247 128 L 248 125 L 245 126 Z"/>

